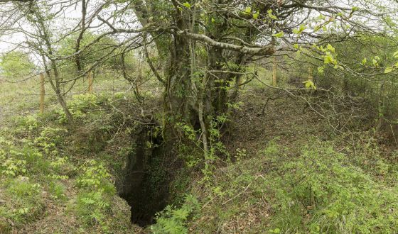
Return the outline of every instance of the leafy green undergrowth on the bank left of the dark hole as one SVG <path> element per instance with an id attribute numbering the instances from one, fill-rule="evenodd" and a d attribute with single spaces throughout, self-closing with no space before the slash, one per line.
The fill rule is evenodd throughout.
<path id="1" fill-rule="evenodd" d="M 92 124 L 103 116 L 97 108 L 104 108 L 104 100 L 87 94 L 70 101 L 77 126 L 90 123 L 85 134 L 108 135 L 112 124 L 117 124 L 114 113 L 106 130 Z M 129 207 L 117 196 L 109 173 L 108 165 L 115 159 L 95 158 L 96 145 L 80 147 L 84 138 L 82 143 L 74 141 L 81 138 L 79 130 L 63 118 L 55 110 L 17 117 L 0 128 L 0 233 L 31 233 L 38 226 L 47 228 L 47 233 L 126 233 L 130 229 Z M 106 138 L 96 140 L 110 145 Z M 50 221 L 54 217 L 58 221 Z"/>

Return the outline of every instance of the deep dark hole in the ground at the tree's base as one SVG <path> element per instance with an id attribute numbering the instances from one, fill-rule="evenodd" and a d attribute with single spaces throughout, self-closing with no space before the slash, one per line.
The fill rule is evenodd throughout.
<path id="1" fill-rule="evenodd" d="M 155 223 L 156 213 L 168 201 L 168 176 L 162 139 L 141 130 L 134 138 L 134 152 L 128 155 L 119 196 L 131 207 L 131 223 L 145 228 Z M 155 146 L 148 146 L 148 143 Z"/>

